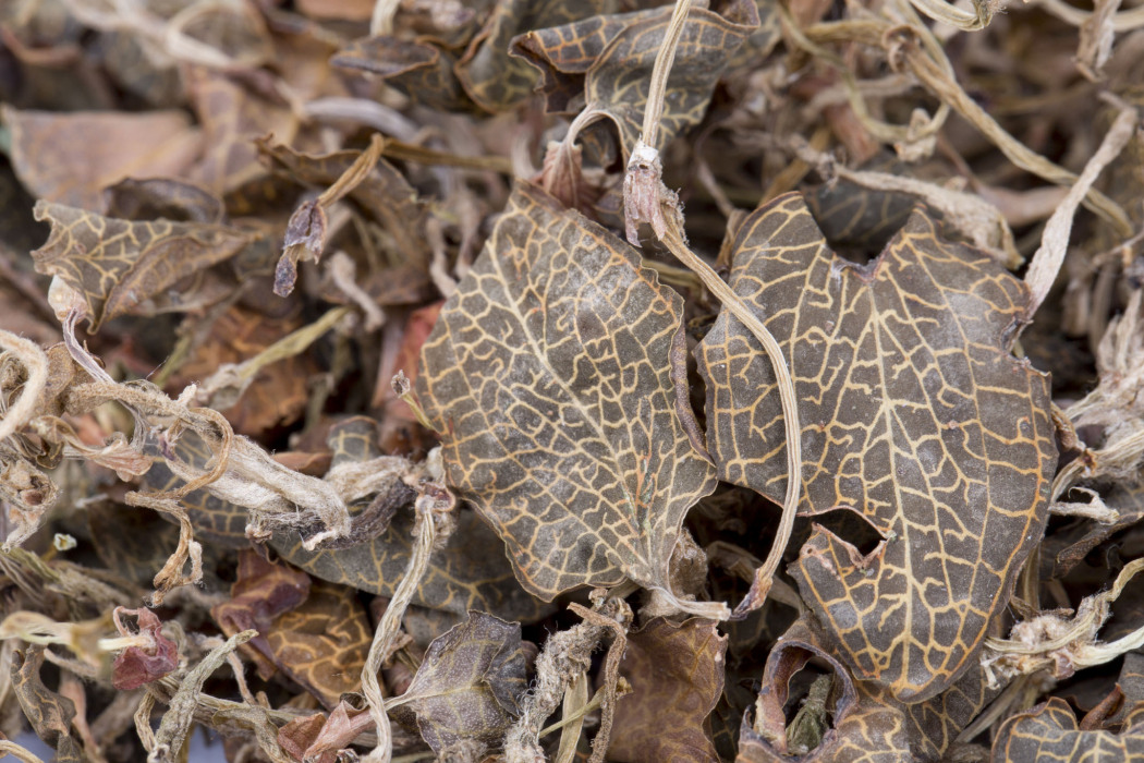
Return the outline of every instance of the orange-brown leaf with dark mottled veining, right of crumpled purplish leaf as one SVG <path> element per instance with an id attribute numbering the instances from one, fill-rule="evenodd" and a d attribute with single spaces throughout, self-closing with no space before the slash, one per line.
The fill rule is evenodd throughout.
<path id="1" fill-rule="evenodd" d="M 373 628 L 356 589 L 313 581 L 305 602 L 275 618 L 265 636 L 278 669 L 327 708 L 360 690 Z"/>

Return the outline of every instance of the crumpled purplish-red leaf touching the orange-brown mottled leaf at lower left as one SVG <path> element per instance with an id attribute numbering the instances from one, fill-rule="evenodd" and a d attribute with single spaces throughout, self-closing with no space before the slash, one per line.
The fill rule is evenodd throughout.
<path id="1" fill-rule="evenodd" d="M 251 654 L 263 678 L 273 675 L 273 649 L 267 634 L 273 620 L 300 606 L 310 595 L 310 577 L 288 564 L 271 564 L 256 551 L 238 553 L 238 572 L 230 599 L 210 607 L 210 617 L 228 636 L 257 630 L 249 639 Z"/>

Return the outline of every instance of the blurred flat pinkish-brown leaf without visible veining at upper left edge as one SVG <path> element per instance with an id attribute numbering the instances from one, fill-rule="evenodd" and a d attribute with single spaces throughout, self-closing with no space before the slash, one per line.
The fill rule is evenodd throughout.
<path id="1" fill-rule="evenodd" d="M 34 196 L 103 212 L 103 189 L 125 177 L 178 175 L 202 149 L 180 111 L 148 113 L 0 111 L 16 174 Z"/>

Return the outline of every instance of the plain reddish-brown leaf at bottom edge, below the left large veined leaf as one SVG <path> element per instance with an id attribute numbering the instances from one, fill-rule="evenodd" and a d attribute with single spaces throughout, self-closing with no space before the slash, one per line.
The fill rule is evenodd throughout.
<path id="1" fill-rule="evenodd" d="M 609 760 L 717 763 L 708 716 L 723 693 L 725 652 L 714 620 L 654 618 L 628 634 L 620 675 L 634 691 L 615 706 Z"/>

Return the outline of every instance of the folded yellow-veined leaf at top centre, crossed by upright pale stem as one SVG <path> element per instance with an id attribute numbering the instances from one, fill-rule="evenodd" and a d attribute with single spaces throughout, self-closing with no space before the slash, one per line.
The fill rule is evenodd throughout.
<path id="1" fill-rule="evenodd" d="M 540 70 L 549 113 L 583 110 L 610 119 L 627 157 L 639 138 L 651 72 L 672 10 L 667 6 L 598 16 L 529 32 L 513 41 L 513 53 Z M 722 15 L 691 10 L 667 81 L 672 97 L 660 119 L 661 143 L 702 119 L 715 84 L 757 27 L 753 0 L 733 0 Z"/>

